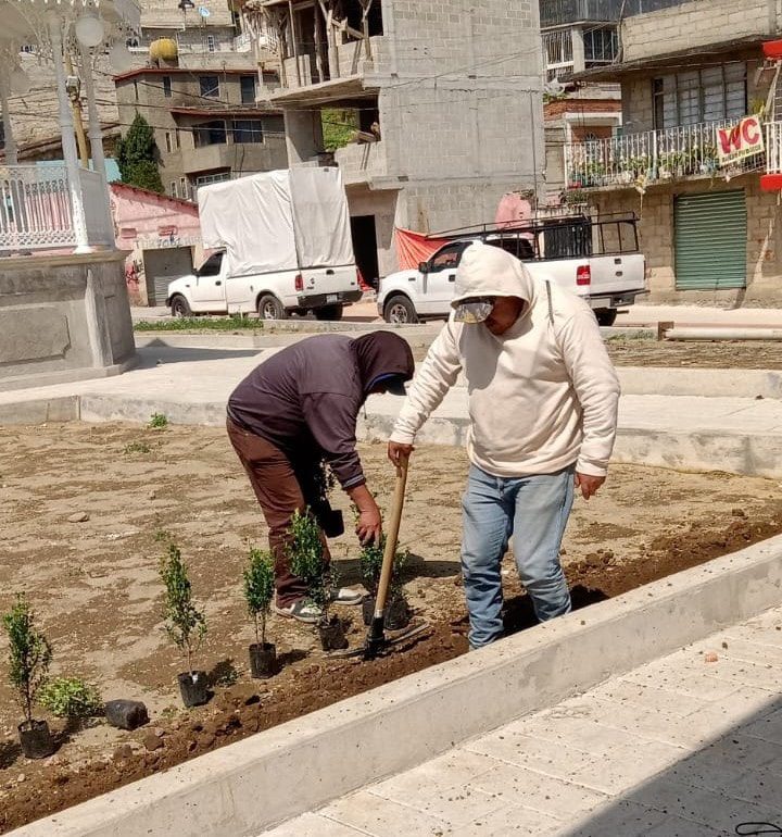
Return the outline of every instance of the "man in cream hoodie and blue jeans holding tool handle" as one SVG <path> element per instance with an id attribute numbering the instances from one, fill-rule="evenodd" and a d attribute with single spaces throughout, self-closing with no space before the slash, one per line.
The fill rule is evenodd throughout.
<path id="1" fill-rule="evenodd" d="M 603 485 L 616 436 L 619 382 L 583 300 L 534 279 L 504 250 L 467 247 L 454 312 L 432 343 L 396 421 L 389 458 L 464 371 L 469 393 L 462 570 L 471 648 L 503 633 L 501 561 L 514 536 L 519 577 L 539 620 L 570 611 L 559 549 L 573 489 Z"/>

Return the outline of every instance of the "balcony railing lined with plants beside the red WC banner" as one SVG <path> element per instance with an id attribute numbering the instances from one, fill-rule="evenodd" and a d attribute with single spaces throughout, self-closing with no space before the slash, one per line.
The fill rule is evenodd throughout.
<path id="1" fill-rule="evenodd" d="M 663 183 L 765 167 L 765 155 L 755 154 L 732 163 L 729 170 L 720 168 L 716 132 L 734 124 L 735 120 L 705 122 L 566 146 L 568 188 Z"/>

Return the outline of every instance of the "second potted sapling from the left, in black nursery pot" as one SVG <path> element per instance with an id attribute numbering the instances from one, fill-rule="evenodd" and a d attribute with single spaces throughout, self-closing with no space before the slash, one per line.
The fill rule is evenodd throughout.
<path id="1" fill-rule="evenodd" d="M 166 632 L 187 660 L 188 670 L 177 675 L 182 702 L 200 707 L 209 700 L 209 678 L 206 672 L 193 670 L 192 658 L 206 634 L 206 619 L 193 603 L 187 566 L 174 544 L 161 559 L 160 576 L 165 587 Z"/>

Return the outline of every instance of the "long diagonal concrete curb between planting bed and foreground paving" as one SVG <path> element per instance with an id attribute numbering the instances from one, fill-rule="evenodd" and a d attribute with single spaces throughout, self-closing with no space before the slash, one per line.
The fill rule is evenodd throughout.
<path id="1" fill-rule="evenodd" d="M 13 832 L 252 837 L 779 604 L 782 536 Z"/>

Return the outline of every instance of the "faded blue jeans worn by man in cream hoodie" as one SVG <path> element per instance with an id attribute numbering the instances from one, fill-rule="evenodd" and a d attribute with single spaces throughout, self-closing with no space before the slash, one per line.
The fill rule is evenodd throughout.
<path id="1" fill-rule="evenodd" d="M 471 648 L 503 633 L 503 555 L 510 536 L 519 578 L 541 622 L 570 611 L 559 563 L 573 501 L 573 469 L 558 474 L 505 478 L 472 465 L 464 496 L 462 573 L 469 610 Z"/>

